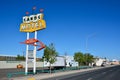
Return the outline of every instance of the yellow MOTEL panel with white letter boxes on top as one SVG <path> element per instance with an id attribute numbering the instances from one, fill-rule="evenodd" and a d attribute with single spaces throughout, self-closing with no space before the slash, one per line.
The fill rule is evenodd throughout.
<path id="1" fill-rule="evenodd" d="M 23 17 L 23 23 L 20 25 L 21 32 L 34 32 L 45 28 L 46 22 L 43 20 L 43 14 L 25 16 Z"/>

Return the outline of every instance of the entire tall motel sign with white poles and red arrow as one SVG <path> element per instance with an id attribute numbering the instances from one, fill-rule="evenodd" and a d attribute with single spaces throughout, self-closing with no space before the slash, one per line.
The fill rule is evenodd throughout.
<path id="1" fill-rule="evenodd" d="M 36 7 L 33 7 L 36 9 Z M 37 31 L 46 28 L 46 22 L 43 19 L 43 9 L 40 9 L 40 13 L 32 14 L 23 17 L 23 23 L 20 24 L 20 31 L 27 33 L 27 40 L 21 42 L 26 44 L 26 65 L 25 65 L 25 75 L 28 74 L 28 63 L 33 63 L 33 73 L 36 73 L 36 52 L 45 48 L 45 45 L 37 39 Z M 30 33 L 34 33 L 34 38 L 30 38 Z M 39 44 L 37 44 L 39 43 Z M 33 50 L 29 50 L 29 45 L 33 46 Z M 37 49 L 37 46 L 40 48 Z"/>

